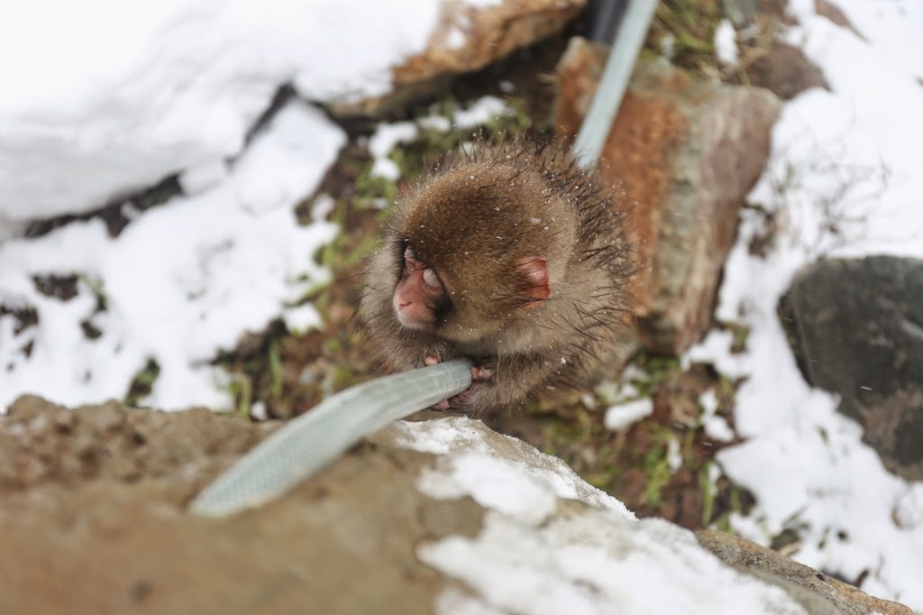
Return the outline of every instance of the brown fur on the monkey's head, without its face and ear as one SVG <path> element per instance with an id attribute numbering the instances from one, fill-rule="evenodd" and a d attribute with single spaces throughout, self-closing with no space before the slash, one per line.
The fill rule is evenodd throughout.
<path id="1" fill-rule="evenodd" d="M 530 303 L 523 274 L 547 259 L 552 284 L 576 240 L 576 216 L 531 156 L 454 160 L 409 195 L 391 233 L 438 272 L 451 303 L 436 332 L 472 339 L 496 332 Z M 553 287 L 553 286 L 552 286 Z"/>

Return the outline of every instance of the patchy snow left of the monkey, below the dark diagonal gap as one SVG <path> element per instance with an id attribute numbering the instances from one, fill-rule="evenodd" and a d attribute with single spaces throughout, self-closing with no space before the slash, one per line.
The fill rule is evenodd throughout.
<path id="1" fill-rule="evenodd" d="M 290 103 L 224 181 L 144 212 L 115 238 L 93 219 L 0 244 L 0 300 L 30 305 L 40 320 L 18 335 L 12 319 L 0 320 L 0 406 L 25 392 L 62 404 L 121 399 L 153 359 L 161 372 L 147 403 L 228 407 L 224 376 L 210 366 L 219 351 L 287 311 L 301 328 L 318 323 L 312 308 L 286 306 L 329 280 L 313 255 L 336 227 L 298 226 L 293 208 L 344 140 L 317 109 Z M 32 282 L 74 272 L 78 295 L 66 302 Z M 96 311 L 97 294 L 105 311 Z M 88 338 L 82 320 L 102 336 Z"/>

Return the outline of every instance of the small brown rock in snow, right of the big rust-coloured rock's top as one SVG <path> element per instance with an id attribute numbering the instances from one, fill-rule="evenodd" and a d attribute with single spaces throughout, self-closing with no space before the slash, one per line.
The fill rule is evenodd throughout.
<path id="1" fill-rule="evenodd" d="M 753 85 L 772 91 L 784 101 L 811 88 L 830 90 L 821 69 L 786 42 L 773 41 L 765 54 L 747 66 L 747 77 Z"/>

